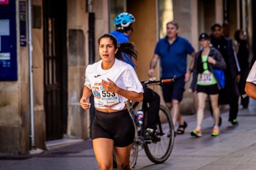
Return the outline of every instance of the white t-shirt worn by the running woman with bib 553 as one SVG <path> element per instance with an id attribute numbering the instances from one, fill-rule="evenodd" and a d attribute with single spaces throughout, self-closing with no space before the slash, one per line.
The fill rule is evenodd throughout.
<path id="1" fill-rule="evenodd" d="M 112 108 L 113 110 L 122 110 L 127 103 L 127 100 L 122 95 L 114 92 L 108 92 L 101 85 L 102 79 L 108 81 L 111 79 L 121 89 L 127 91 L 143 92 L 142 84 L 140 83 L 134 68 L 129 64 L 115 59 L 113 67 L 108 70 L 101 68 L 102 60 L 88 65 L 85 70 L 85 86 L 92 90 L 95 100 L 95 108 Z"/>

